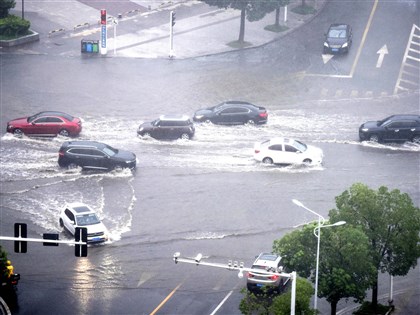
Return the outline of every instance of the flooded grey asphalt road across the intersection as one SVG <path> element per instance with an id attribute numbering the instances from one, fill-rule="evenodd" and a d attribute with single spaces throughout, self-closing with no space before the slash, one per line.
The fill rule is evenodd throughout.
<path id="1" fill-rule="evenodd" d="M 173 253 L 201 252 L 208 261 L 233 259 L 249 266 L 259 252 L 271 250 L 274 239 L 315 219 L 291 199 L 327 216 L 334 197 L 355 182 L 400 189 L 419 205 L 420 147 L 357 140 L 357 128 L 366 120 L 419 113 L 418 94 L 391 96 L 405 47 L 396 45 L 398 53 L 388 60 L 392 67 L 386 73 L 372 71 L 376 57 L 362 50 L 354 77 L 334 77 L 337 69 L 340 75 L 351 72 L 361 44 L 355 42 L 348 56 L 324 66 L 320 52 L 311 49 L 318 46 L 314 33 L 322 34 L 326 21 L 341 12 L 337 6 L 332 2 L 319 19 L 282 42 L 214 57 L 181 61 L 2 55 L 2 126 L 41 110 L 62 110 L 84 118 L 82 139 L 129 149 L 139 157 L 135 174 L 66 171 L 56 164 L 65 139 L 2 136 L 1 235 L 12 235 L 14 222 L 28 223 L 33 237 L 60 232 L 58 213 L 68 201 L 97 209 L 112 233 L 112 241 L 89 248 L 87 258 L 74 257 L 74 249 L 65 245 L 30 244 L 27 254 L 15 254 L 12 244 L 5 244 L 22 275 L 14 313 L 212 314 L 220 306 L 218 314 L 239 314 L 244 279 L 235 272 L 175 265 Z M 383 18 L 391 14 L 385 9 Z M 369 12 L 349 17 L 353 25 L 360 21 L 355 28 L 359 38 L 368 17 Z M 406 16 L 396 18 L 395 24 L 402 26 L 393 30 L 395 38 L 402 37 L 399 32 L 407 38 Z M 364 47 L 372 50 L 384 40 L 371 37 Z M 302 77 L 302 71 L 315 75 Z M 359 97 L 337 94 L 354 89 L 361 91 Z M 372 89 L 386 95 L 365 97 Z M 235 98 L 266 106 L 268 124 L 199 125 L 192 141 L 136 136 L 141 122 L 162 113 L 192 115 L 200 107 Z M 254 162 L 253 143 L 273 135 L 321 147 L 323 166 Z M 61 237 L 71 238 L 66 233 Z M 418 290 L 418 269 L 412 274 L 395 279 L 395 288 Z M 388 281 L 381 280 L 384 295 Z M 339 309 L 346 306 L 341 303 Z M 324 300 L 319 307 L 329 312 Z"/>

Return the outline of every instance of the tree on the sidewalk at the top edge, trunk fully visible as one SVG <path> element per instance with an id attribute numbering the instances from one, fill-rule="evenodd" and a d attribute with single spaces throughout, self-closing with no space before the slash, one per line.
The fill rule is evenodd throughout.
<path id="1" fill-rule="evenodd" d="M 245 41 L 245 18 L 250 21 L 259 21 L 274 8 L 270 5 L 273 0 L 201 0 L 210 6 L 218 8 L 232 8 L 241 11 L 241 22 L 239 28 L 239 43 Z"/>

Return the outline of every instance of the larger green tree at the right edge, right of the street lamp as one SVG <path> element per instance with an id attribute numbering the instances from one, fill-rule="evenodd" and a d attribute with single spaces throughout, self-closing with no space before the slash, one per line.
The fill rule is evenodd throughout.
<path id="1" fill-rule="evenodd" d="M 378 190 L 356 183 L 336 197 L 333 222 L 345 220 L 360 227 L 370 242 L 370 258 L 376 269 L 372 306 L 378 304 L 379 271 L 404 276 L 420 257 L 420 209 L 408 194 L 381 186 Z M 366 258 L 365 258 L 366 259 Z"/>

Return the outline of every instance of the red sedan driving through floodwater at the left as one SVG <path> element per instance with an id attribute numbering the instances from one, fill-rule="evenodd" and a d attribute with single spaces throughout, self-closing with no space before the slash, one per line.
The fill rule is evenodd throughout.
<path id="1" fill-rule="evenodd" d="M 64 137 L 77 136 L 82 131 L 82 120 L 72 115 L 45 111 L 29 117 L 16 118 L 7 123 L 7 132 L 15 136 Z"/>

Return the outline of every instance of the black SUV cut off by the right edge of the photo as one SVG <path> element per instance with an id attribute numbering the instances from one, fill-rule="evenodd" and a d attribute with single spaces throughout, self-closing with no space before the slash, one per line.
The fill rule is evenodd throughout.
<path id="1" fill-rule="evenodd" d="M 392 115 L 379 121 L 368 121 L 359 128 L 360 141 L 413 141 L 420 144 L 420 116 Z"/>

